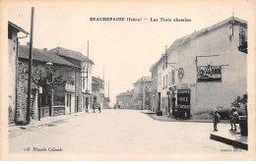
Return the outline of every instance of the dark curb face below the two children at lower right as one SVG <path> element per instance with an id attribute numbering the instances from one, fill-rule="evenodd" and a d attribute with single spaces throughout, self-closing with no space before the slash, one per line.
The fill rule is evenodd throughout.
<path id="1" fill-rule="evenodd" d="M 220 136 L 214 135 L 212 133 L 210 135 L 210 138 L 213 139 L 213 140 L 224 142 L 224 143 L 229 144 L 229 145 L 233 145 L 233 146 L 238 147 L 238 148 L 248 150 L 248 144 L 240 142 L 240 141 L 232 140 L 232 139 L 229 139 L 229 138 L 226 138 L 226 137 L 220 137 Z"/>

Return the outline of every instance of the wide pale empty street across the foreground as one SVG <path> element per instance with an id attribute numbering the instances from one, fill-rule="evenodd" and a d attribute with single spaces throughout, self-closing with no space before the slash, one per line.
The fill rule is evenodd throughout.
<path id="1" fill-rule="evenodd" d="M 11 153 L 167 154 L 233 150 L 230 145 L 210 139 L 212 129 L 211 123 L 160 122 L 139 110 L 107 109 L 9 134 L 9 145 Z"/>

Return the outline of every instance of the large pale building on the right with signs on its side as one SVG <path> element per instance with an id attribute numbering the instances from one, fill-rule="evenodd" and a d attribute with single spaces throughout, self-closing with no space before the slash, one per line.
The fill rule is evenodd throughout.
<path id="1" fill-rule="evenodd" d="M 247 23 L 237 18 L 175 40 L 157 63 L 160 110 L 176 106 L 188 118 L 228 110 L 247 90 L 246 53 Z"/>

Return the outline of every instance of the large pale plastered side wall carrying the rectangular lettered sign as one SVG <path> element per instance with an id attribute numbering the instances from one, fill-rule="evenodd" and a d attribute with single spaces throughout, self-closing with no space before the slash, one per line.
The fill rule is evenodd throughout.
<path id="1" fill-rule="evenodd" d="M 234 26 L 231 34 L 228 24 L 210 31 L 178 48 L 178 68 L 184 69 L 184 77 L 179 79 L 178 88 L 187 83 L 191 88 L 191 113 L 210 111 L 217 106 L 229 108 L 235 96 L 246 92 L 246 56 L 238 51 L 239 27 Z M 222 81 L 197 82 L 196 56 L 220 55 L 217 57 L 198 57 L 197 66 L 221 66 Z"/>

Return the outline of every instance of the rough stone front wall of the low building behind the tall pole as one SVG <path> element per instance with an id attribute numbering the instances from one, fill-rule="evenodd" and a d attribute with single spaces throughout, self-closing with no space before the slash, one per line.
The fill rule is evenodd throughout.
<path id="1" fill-rule="evenodd" d="M 46 76 L 45 73 L 45 64 L 40 63 L 37 61 L 33 61 L 32 64 L 32 77 L 34 79 L 38 79 L 39 77 L 35 78 L 35 73 L 42 74 L 43 77 Z M 26 113 L 27 113 L 27 94 L 28 94 L 28 74 L 27 71 L 29 69 L 29 63 L 28 60 L 25 59 L 19 59 L 19 68 L 18 68 L 18 87 L 17 87 L 17 118 L 18 121 L 25 121 L 26 120 Z M 59 79 L 62 80 L 60 83 L 55 83 L 52 85 L 52 88 L 54 89 L 53 92 L 53 100 L 56 100 L 56 96 L 65 96 L 65 82 L 73 83 L 75 81 L 75 68 L 62 66 L 62 65 L 53 65 L 52 66 L 52 79 Z M 37 85 L 35 85 L 32 82 L 32 88 L 37 88 Z M 34 95 L 32 97 L 37 97 L 36 92 L 34 92 Z M 37 113 L 37 105 L 36 105 L 36 97 L 35 101 L 32 106 L 32 110 L 35 111 L 35 114 Z M 65 101 L 65 100 L 64 100 Z M 73 99 L 72 102 L 75 105 L 75 100 Z M 64 107 L 65 102 L 63 102 Z M 53 101 L 53 106 L 60 106 L 59 101 Z M 55 110 L 55 109 L 54 109 Z M 36 116 L 37 117 L 37 116 Z"/>

